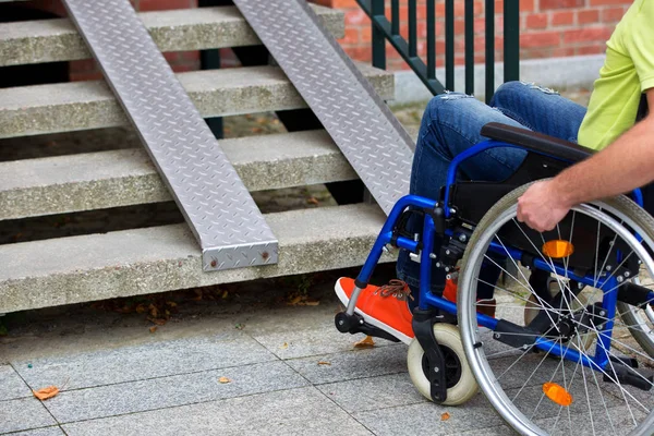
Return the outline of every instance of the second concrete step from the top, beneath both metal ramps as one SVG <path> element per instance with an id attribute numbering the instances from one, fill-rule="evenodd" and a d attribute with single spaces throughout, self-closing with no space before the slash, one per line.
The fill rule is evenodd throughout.
<path id="1" fill-rule="evenodd" d="M 358 64 L 384 99 L 393 75 Z M 306 107 L 277 66 L 195 71 L 177 75 L 203 117 Z M 128 120 L 104 81 L 0 89 L 0 137 L 125 125 Z"/>

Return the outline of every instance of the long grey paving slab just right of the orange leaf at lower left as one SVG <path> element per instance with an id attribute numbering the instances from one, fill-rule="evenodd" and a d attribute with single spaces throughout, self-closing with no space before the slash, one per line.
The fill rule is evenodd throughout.
<path id="1" fill-rule="evenodd" d="M 227 377 L 229 383 L 220 383 Z M 45 404 L 60 423 L 305 386 L 282 362 L 230 367 L 60 393 Z"/>

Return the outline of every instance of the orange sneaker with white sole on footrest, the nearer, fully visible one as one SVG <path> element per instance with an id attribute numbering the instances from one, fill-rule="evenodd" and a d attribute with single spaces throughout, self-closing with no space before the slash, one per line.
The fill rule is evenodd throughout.
<path id="1" fill-rule="evenodd" d="M 346 306 L 354 291 L 354 279 L 341 277 L 334 289 Z M 404 343 L 413 339 L 411 320 L 413 315 L 407 300 L 412 299 L 409 286 L 401 280 L 390 280 L 388 284 L 376 287 L 368 284 L 356 299 L 354 312 L 363 319 L 384 331 L 395 336 Z"/>

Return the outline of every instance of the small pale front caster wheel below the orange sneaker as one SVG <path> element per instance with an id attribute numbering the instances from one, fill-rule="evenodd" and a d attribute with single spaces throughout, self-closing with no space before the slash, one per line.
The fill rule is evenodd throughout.
<path id="1" fill-rule="evenodd" d="M 451 324 L 435 324 L 434 336 L 445 358 L 447 400 L 443 404 L 463 404 L 477 392 L 479 386 L 463 353 L 459 329 Z M 411 382 L 419 392 L 432 400 L 429 379 L 427 378 L 429 367 L 417 339 L 413 339 L 409 346 L 407 365 Z"/>

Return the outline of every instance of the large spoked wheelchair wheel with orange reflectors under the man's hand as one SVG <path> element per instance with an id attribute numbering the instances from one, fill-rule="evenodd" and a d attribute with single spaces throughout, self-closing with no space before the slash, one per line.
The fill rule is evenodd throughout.
<path id="1" fill-rule="evenodd" d="M 654 359 L 641 342 L 652 341 L 634 340 L 634 324 L 625 320 L 647 313 L 626 312 L 633 306 L 617 298 L 652 296 L 641 283 L 654 282 L 654 219 L 616 197 L 580 205 L 540 233 L 516 219 L 526 187 L 484 216 L 459 275 L 459 328 L 482 391 L 524 435 L 651 435 Z M 494 261 L 498 255 L 516 272 Z M 502 269 L 509 282 L 482 282 L 482 264 Z M 530 284 L 534 269 L 550 274 L 554 295 Z M 480 284 L 493 287 L 497 301 L 496 319 L 486 327 L 475 315 Z"/>

